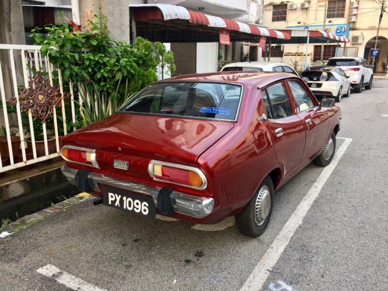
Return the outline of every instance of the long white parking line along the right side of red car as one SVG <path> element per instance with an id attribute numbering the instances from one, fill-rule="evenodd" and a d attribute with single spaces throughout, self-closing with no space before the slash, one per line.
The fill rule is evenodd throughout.
<path id="1" fill-rule="evenodd" d="M 283 229 L 279 232 L 274 242 L 272 242 L 270 248 L 265 252 L 251 275 L 249 275 L 248 279 L 245 281 L 241 291 L 260 290 L 263 286 L 265 280 L 270 275 L 270 271 L 275 266 L 287 244 L 290 242 L 296 228 L 301 225 L 307 211 L 310 209 L 315 198 L 317 198 L 318 194 L 321 192 L 323 185 L 330 177 L 330 174 L 337 166 L 339 159 L 342 157 L 351 142 L 351 138 L 344 138 L 344 142 L 339 147 L 331 163 L 323 169 L 317 181 L 312 185 L 301 203 L 299 203 L 290 219 L 283 226 Z"/>

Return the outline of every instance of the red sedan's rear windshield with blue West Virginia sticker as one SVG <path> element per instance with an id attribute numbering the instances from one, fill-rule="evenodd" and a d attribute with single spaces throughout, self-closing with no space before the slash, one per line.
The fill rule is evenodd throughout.
<path id="1" fill-rule="evenodd" d="M 241 91 L 242 86 L 227 83 L 156 83 L 129 100 L 119 112 L 235 120 Z"/>

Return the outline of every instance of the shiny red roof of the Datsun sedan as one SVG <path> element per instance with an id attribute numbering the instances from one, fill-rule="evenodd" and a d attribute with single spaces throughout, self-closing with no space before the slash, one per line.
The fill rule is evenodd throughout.
<path id="1" fill-rule="evenodd" d="M 296 78 L 295 75 L 280 72 L 258 72 L 258 71 L 226 71 L 217 73 L 191 74 L 173 77 L 157 81 L 208 81 L 208 82 L 225 82 L 242 85 L 254 85 L 262 87 L 276 80 L 286 79 L 288 77 Z"/>

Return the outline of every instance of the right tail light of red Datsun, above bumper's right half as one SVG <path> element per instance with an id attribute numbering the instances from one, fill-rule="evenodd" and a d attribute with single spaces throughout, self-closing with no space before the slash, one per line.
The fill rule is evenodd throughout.
<path id="1" fill-rule="evenodd" d="M 148 173 L 156 181 L 186 186 L 198 190 L 206 188 L 205 174 L 198 168 L 170 162 L 151 160 Z"/>

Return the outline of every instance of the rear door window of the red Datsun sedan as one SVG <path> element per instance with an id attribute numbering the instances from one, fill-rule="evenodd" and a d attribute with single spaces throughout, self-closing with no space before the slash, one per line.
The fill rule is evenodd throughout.
<path id="1" fill-rule="evenodd" d="M 265 89 L 271 107 L 272 119 L 281 119 L 293 115 L 290 96 L 283 82 Z"/>

